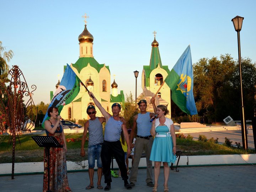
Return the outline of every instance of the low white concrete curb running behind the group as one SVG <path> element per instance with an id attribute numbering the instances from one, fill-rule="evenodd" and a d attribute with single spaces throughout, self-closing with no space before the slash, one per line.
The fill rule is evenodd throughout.
<path id="1" fill-rule="evenodd" d="M 177 163 L 177 161 L 176 161 Z M 174 165 L 176 165 L 176 163 Z M 216 166 L 216 165 L 248 165 L 256 164 L 256 154 L 241 154 L 241 155 L 198 155 L 198 156 L 181 156 L 179 166 Z M 95 165 L 97 165 L 95 163 Z M 129 167 L 132 166 L 132 161 L 129 159 Z M 153 162 L 154 166 L 154 162 Z M 15 174 L 26 175 L 43 173 L 43 162 L 26 162 L 15 163 Z M 113 164 L 114 169 L 118 168 L 116 161 Z M 139 167 L 146 167 L 146 158 L 141 158 Z M 88 160 L 80 162 L 67 161 L 68 171 L 87 171 Z M 95 166 L 95 169 L 97 167 Z M 12 170 L 11 163 L 0 164 L 0 176 L 10 175 Z"/>

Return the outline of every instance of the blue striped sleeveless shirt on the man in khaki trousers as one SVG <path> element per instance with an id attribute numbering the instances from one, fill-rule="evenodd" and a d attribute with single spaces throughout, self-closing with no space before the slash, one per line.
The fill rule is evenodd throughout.
<path id="1" fill-rule="evenodd" d="M 150 123 L 150 112 L 145 114 L 138 113 L 137 122 L 137 135 L 147 137 L 150 135 L 152 123 Z"/>

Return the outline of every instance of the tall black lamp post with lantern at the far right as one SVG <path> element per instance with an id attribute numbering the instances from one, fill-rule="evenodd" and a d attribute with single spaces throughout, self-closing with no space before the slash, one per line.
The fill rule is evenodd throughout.
<path id="1" fill-rule="evenodd" d="M 240 97 L 241 97 L 241 107 L 240 107 L 240 118 L 241 118 L 241 129 L 242 129 L 242 145 L 243 149 L 248 149 L 247 143 L 247 130 L 246 130 L 246 119 L 244 112 L 244 101 L 242 92 L 242 68 L 241 68 L 241 51 L 240 51 L 240 31 L 242 29 L 242 21 L 244 17 L 236 16 L 231 21 L 234 24 L 235 31 L 238 33 L 238 62 L 239 62 L 239 79 L 240 79 Z"/>

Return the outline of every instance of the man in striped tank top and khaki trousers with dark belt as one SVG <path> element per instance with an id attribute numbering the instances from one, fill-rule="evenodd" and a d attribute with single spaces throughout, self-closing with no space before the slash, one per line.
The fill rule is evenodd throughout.
<path id="1" fill-rule="evenodd" d="M 152 97 L 150 102 L 153 105 L 154 112 L 156 113 L 156 105 L 155 105 L 155 98 Z M 134 145 L 134 161 L 133 166 L 130 173 L 130 186 L 135 186 L 137 182 L 137 174 L 138 174 L 138 167 L 141 155 L 143 151 L 146 152 L 146 164 L 147 164 L 147 175 L 146 175 L 146 185 L 153 187 L 153 169 L 152 169 L 152 161 L 149 160 L 151 148 L 153 144 L 153 137 L 150 134 L 152 123 L 150 119 L 154 117 L 155 113 L 150 113 L 146 111 L 147 102 L 146 100 L 140 100 L 138 103 L 140 113 L 133 117 L 133 127 L 132 131 L 130 132 L 130 142 L 132 142 L 134 137 L 134 132 L 137 127 L 137 138 Z"/>

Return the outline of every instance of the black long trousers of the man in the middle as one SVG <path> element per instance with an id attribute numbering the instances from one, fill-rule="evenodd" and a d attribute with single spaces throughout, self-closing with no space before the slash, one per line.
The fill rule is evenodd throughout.
<path id="1" fill-rule="evenodd" d="M 104 141 L 101 149 L 101 161 L 103 166 L 103 174 L 105 178 L 105 183 L 112 182 L 111 179 L 111 160 L 112 155 L 115 157 L 117 165 L 121 171 L 121 176 L 123 180 L 128 180 L 127 169 L 124 160 L 124 151 L 120 141 L 107 142 Z"/>

